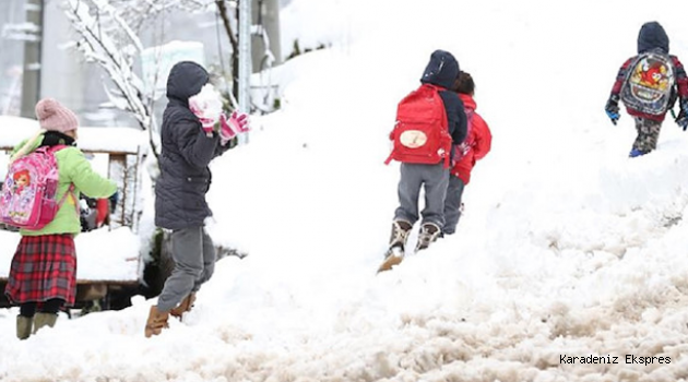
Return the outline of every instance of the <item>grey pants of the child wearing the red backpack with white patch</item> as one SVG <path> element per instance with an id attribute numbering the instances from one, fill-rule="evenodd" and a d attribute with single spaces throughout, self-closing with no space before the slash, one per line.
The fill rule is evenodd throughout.
<path id="1" fill-rule="evenodd" d="M 449 183 L 449 169 L 444 164 L 417 165 L 401 164 L 399 180 L 399 208 L 394 219 L 406 220 L 412 225 L 418 220 L 418 199 L 420 188 L 425 187 L 425 208 L 423 223 L 435 223 L 440 228 L 444 225 L 444 196 Z"/>

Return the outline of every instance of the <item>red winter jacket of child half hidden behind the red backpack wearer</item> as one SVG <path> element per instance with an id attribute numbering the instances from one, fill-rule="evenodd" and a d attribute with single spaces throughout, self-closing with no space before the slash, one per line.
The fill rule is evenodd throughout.
<path id="1" fill-rule="evenodd" d="M 476 104 L 473 97 L 467 94 L 459 94 L 459 97 L 463 102 L 466 116 L 473 115 L 473 117 L 468 117 L 468 135 L 460 145 L 463 146 L 465 155 L 451 168 L 451 175 L 461 178 L 464 184 L 468 184 L 475 162 L 483 159 L 489 153 L 493 134 L 483 117 L 475 112 Z"/>

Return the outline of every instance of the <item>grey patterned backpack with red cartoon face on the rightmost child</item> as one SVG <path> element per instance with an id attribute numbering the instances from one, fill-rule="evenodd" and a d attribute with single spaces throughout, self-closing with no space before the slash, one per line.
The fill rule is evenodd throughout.
<path id="1" fill-rule="evenodd" d="M 675 83 L 671 56 L 651 50 L 638 55 L 628 67 L 620 98 L 628 108 L 662 116 L 675 102 Z"/>

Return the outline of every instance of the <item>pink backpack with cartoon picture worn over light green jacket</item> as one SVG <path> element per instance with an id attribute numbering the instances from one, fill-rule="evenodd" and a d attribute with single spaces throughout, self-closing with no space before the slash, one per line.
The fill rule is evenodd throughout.
<path id="1" fill-rule="evenodd" d="M 70 184 L 60 201 L 56 201 L 59 176 L 55 152 L 63 147 L 43 146 L 10 165 L 0 193 L 2 223 L 36 230 L 52 222 L 74 190 L 74 184 Z"/>

